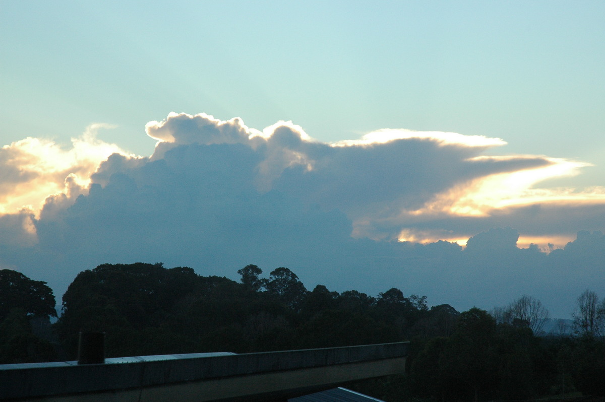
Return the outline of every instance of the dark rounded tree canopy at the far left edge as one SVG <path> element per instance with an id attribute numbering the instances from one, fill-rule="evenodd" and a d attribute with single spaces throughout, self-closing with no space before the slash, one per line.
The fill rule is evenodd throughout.
<path id="1" fill-rule="evenodd" d="M 0 270 L 0 321 L 11 308 L 28 316 L 56 317 L 53 291 L 42 280 L 33 280 L 13 270 Z"/>

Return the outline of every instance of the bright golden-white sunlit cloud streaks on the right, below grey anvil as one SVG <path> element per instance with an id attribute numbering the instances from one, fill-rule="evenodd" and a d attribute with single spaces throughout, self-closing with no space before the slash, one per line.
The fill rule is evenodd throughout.
<path id="1" fill-rule="evenodd" d="M 506 161 L 510 158 L 523 157 L 476 157 L 474 161 Z M 531 155 L 526 158 L 535 158 Z M 488 218 L 495 212 L 510 213 L 518 207 L 529 205 L 543 206 L 588 206 L 605 204 L 605 187 L 590 187 L 577 190 L 569 188 L 535 188 L 538 183 L 558 178 L 577 175 L 581 167 L 590 166 L 588 163 L 565 160 L 563 158 L 543 157 L 547 164 L 530 169 L 519 169 L 511 172 L 494 173 L 485 177 L 476 178 L 467 183 L 454 186 L 443 193 L 434 196 L 422 208 L 402 212 L 414 220 L 423 221 L 431 216 L 439 219 L 445 216 L 450 218 L 474 217 Z M 472 236 L 472 233 L 466 235 Z M 468 236 L 448 235 L 443 230 L 417 231 L 414 229 L 402 230 L 397 238 L 399 241 L 413 241 L 430 243 L 438 240 L 457 242 L 465 245 Z M 526 248 L 531 244 L 538 244 L 545 252 L 554 248 L 563 247 L 572 241 L 574 235 L 545 234 L 544 236 L 520 236 L 518 247 Z"/>

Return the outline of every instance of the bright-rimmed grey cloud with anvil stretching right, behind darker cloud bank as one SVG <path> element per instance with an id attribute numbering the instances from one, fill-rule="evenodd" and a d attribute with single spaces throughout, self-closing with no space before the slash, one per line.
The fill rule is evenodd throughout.
<path id="1" fill-rule="evenodd" d="M 436 241 L 449 232 L 448 239 L 462 239 L 474 232 L 451 233 L 454 222 L 447 228 L 422 229 L 422 236 L 412 235 L 410 226 L 445 217 L 489 218 L 499 210 L 561 200 L 605 203 L 602 189 L 536 187 L 544 180 L 575 175 L 586 163 L 541 155 L 484 155 L 505 144 L 501 138 L 381 129 L 359 140 L 322 143 L 292 122 L 260 132 L 239 118 L 221 121 L 206 114 L 174 113 L 146 129 L 159 140 L 152 159 L 191 143 L 249 146 L 258 157 L 253 176 L 257 190 L 279 190 L 309 205 L 342 210 L 352 219 L 356 237 L 406 239 L 408 233 L 407 239 Z"/>

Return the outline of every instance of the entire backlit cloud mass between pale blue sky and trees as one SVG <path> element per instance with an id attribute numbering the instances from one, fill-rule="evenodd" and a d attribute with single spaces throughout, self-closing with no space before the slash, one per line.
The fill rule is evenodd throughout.
<path id="1" fill-rule="evenodd" d="M 579 278 L 604 270 L 577 247 L 598 241 L 566 245 L 605 225 L 603 189 L 538 187 L 586 164 L 486 155 L 500 138 L 389 129 L 324 143 L 292 122 L 258 131 L 171 113 L 146 125 L 158 142 L 136 157 L 96 140 L 101 127 L 68 149 L 27 138 L 0 152 L 1 200 L 13 211 L 0 215 L 0 266 L 48 280 L 59 296 L 104 262 L 162 261 L 230 277 L 247 264 L 287 266 L 309 287 L 399 287 L 457 308 L 532 294 L 563 311 L 590 286 Z M 529 239 L 547 242 L 518 247 Z M 593 262 L 574 286 L 550 294 L 584 256 Z"/>

